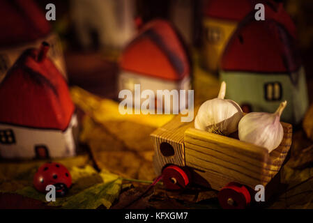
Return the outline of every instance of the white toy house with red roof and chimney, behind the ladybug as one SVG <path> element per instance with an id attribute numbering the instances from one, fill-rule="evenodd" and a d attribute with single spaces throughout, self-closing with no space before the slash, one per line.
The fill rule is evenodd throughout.
<path id="1" fill-rule="evenodd" d="M 75 106 L 47 49 L 27 49 L 0 84 L 0 157 L 75 155 Z"/>

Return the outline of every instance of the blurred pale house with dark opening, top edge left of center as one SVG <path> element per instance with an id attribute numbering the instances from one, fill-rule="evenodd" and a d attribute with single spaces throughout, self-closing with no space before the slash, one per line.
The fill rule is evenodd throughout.
<path id="1" fill-rule="evenodd" d="M 70 15 L 85 49 L 123 49 L 135 35 L 135 1 L 72 0 Z"/>

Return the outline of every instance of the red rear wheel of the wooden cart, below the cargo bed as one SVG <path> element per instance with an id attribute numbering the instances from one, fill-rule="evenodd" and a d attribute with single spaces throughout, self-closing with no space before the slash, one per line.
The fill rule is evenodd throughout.
<path id="1" fill-rule="evenodd" d="M 244 209 L 251 202 L 247 187 L 238 183 L 229 183 L 218 192 L 217 197 L 224 209 Z"/>

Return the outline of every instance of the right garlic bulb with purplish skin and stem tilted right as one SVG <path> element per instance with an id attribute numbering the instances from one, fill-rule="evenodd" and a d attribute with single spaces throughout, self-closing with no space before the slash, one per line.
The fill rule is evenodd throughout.
<path id="1" fill-rule="evenodd" d="M 238 125 L 239 139 L 263 146 L 270 153 L 277 148 L 284 137 L 280 116 L 287 101 L 280 103 L 275 113 L 252 112 L 241 118 Z"/>

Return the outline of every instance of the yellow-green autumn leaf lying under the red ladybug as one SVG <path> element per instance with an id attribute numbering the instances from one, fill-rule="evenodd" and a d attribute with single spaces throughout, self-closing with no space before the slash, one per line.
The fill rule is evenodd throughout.
<path id="1" fill-rule="evenodd" d="M 49 206 L 61 208 L 98 208 L 103 205 L 110 208 L 121 191 L 122 179 L 108 171 L 97 173 L 93 167 L 86 165 L 83 168 L 70 169 L 73 185 L 66 197 L 57 197 Z M 47 202 L 45 193 L 38 192 L 33 186 L 26 186 L 15 191 L 16 194 L 32 199 Z"/>

